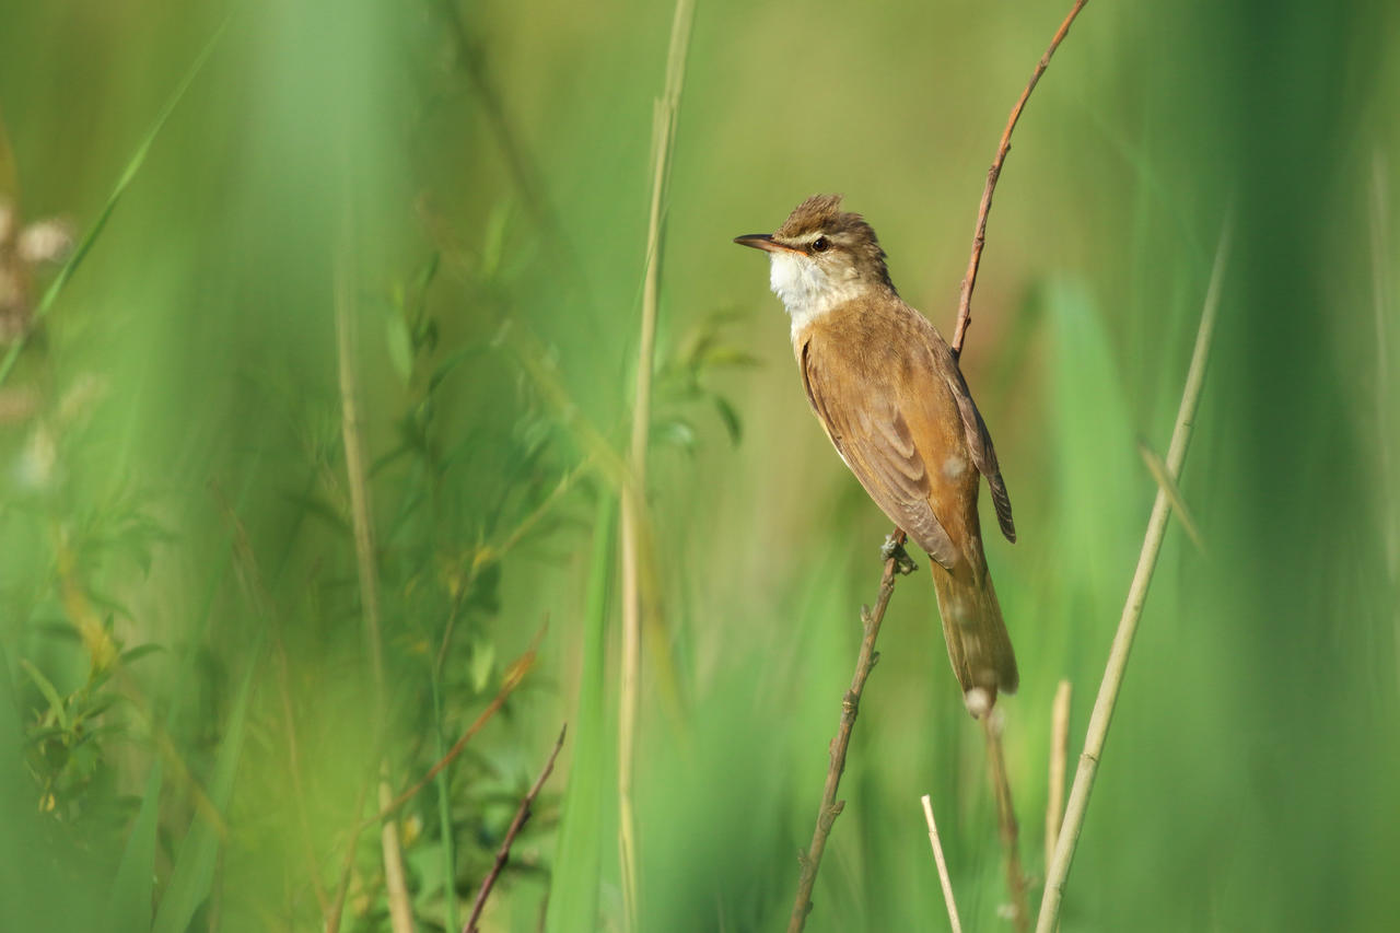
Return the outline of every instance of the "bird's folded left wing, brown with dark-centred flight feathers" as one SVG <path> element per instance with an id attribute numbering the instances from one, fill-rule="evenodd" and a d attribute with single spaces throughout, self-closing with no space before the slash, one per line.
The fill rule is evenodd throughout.
<path id="1" fill-rule="evenodd" d="M 958 548 L 930 506 L 928 472 L 895 403 L 896 392 L 869 385 L 868 375 L 858 378 L 840 368 L 839 359 L 813 360 L 809 350 L 811 343 L 804 343 L 801 370 L 806 398 L 841 459 L 875 504 L 930 558 L 951 570 L 959 558 Z M 853 405 L 857 399 L 858 406 Z"/>

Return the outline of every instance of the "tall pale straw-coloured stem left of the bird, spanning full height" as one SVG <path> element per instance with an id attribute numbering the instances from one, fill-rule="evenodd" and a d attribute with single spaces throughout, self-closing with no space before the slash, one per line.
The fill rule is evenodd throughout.
<path id="1" fill-rule="evenodd" d="M 666 56 L 666 84 L 655 102 L 652 126 L 651 209 L 647 220 L 647 270 L 641 293 L 637 388 L 633 399 L 630 476 L 622 489 L 622 695 L 617 703 L 617 849 L 622 860 L 624 929 L 637 925 L 637 827 L 633 773 L 637 756 L 637 710 L 641 689 L 643 546 L 645 538 L 647 443 L 651 436 L 651 367 L 661 293 L 661 234 L 665 224 L 671 150 L 685 85 L 693 0 L 676 0 Z"/>

